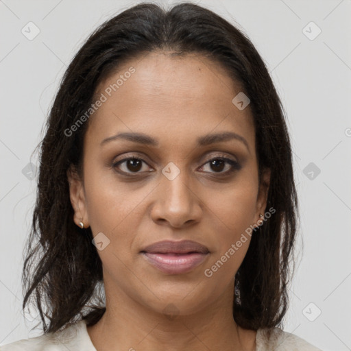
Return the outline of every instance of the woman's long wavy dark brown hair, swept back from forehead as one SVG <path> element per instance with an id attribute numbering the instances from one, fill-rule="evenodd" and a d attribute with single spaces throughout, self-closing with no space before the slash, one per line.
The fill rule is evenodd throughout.
<path id="1" fill-rule="evenodd" d="M 67 171 L 82 174 L 83 123 L 97 86 L 119 66 L 155 50 L 196 53 L 219 62 L 250 98 L 258 173 L 271 169 L 267 208 L 276 213 L 252 234 L 235 276 L 233 318 L 247 329 L 282 326 L 295 270 L 298 202 L 285 112 L 267 67 L 241 30 L 194 3 L 170 9 L 139 3 L 113 16 L 89 36 L 66 69 L 40 142 L 40 168 L 32 228 L 24 247 L 23 309 L 34 304 L 43 332 L 80 319 L 88 326 L 106 311 L 102 264 L 90 228 L 73 222 Z M 90 117 L 93 118 L 93 117 Z M 290 263 L 293 263 L 291 267 Z"/>

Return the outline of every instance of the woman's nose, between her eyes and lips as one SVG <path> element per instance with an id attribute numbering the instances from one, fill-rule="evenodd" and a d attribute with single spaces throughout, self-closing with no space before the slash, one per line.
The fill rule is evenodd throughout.
<path id="1" fill-rule="evenodd" d="M 184 228 L 200 220 L 201 195 L 196 189 L 191 189 L 188 178 L 183 174 L 184 171 L 181 171 L 173 180 L 162 175 L 151 211 L 152 219 L 156 223 Z"/>

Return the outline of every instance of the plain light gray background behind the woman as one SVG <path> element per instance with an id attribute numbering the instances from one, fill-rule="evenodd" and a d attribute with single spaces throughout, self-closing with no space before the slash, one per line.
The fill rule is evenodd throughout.
<path id="1" fill-rule="evenodd" d="M 29 333 L 34 324 L 21 314 L 23 243 L 36 191 L 22 171 L 29 162 L 38 166 L 31 154 L 77 49 L 97 25 L 136 3 L 0 1 L 0 345 L 40 334 Z M 197 3 L 241 25 L 287 110 L 304 247 L 285 331 L 322 350 L 351 350 L 351 1 Z M 33 40 L 21 33 L 29 21 L 40 29 Z M 313 40 L 304 34 L 317 33 L 311 21 L 322 30 Z M 304 171 L 310 162 L 320 169 L 313 179 L 311 169 Z"/>

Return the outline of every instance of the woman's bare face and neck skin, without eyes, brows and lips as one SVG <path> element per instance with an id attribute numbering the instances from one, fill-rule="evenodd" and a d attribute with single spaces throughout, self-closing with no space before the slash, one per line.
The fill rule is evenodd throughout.
<path id="1" fill-rule="evenodd" d="M 166 52 L 128 61 L 100 84 L 97 96 L 130 66 L 135 73 L 90 117 L 84 180 L 68 173 L 75 223 L 82 219 L 94 237 L 103 232 L 110 240 L 98 251 L 106 313 L 88 335 L 98 351 L 255 350 L 256 332 L 232 317 L 234 275 L 250 236 L 213 276 L 204 275 L 265 210 L 270 174 L 259 184 L 250 106 L 232 104 L 241 90 L 219 64 Z M 159 145 L 122 139 L 100 145 L 121 132 L 143 132 Z M 218 132 L 239 134 L 248 149 L 237 139 L 197 146 L 197 137 Z M 130 162 L 112 166 L 132 156 L 144 161 L 134 173 Z M 208 161 L 218 156 L 241 169 L 211 167 Z M 173 180 L 162 174 L 169 162 L 180 170 Z M 157 241 L 182 239 L 210 251 L 189 273 L 162 273 L 140 254 Z M 173 315 L 165 312 L 170 304 Z"/>

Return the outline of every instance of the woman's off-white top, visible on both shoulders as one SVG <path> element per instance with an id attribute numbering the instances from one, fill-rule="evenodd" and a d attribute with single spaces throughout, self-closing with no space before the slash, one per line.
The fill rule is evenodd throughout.
<path id="1" fill-rule="evenodd" d="M 280 328 L 274 328 L 271 339 L 267 340 L 265 329 L 256 333 L 256 351 L 322 351 L 304 339 Z M 81 320 L 64 330 L 32 337 L 0 346 L 0 351 L 97 351 L 88 331 L 86 321 Z"/>

